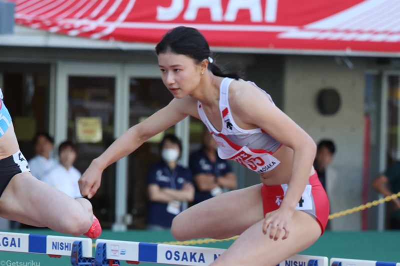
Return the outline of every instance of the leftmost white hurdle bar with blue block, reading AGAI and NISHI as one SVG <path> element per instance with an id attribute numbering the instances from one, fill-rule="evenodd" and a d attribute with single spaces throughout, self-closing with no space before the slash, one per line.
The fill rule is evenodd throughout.
<path id="1" fill-rule="evenodd" d="M 74 241 L 82 243 L 82 257 L 92 257 L 92 240 L 61 236 L 0 232 L 0 251 L 71 256 Z"/>

